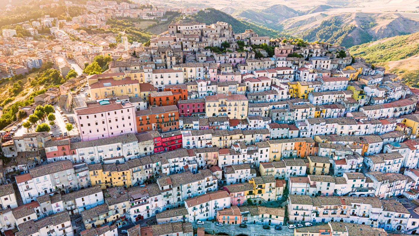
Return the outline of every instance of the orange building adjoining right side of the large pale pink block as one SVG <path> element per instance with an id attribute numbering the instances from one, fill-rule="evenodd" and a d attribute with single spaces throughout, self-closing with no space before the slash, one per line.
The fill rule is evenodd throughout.
<path id="1" fill-rule="evenodd" d="M 179 129 L 179 109 L 175 105 L 151 107 L 135 112 L 137 132 L 157 130 L 166 132 Z"/>

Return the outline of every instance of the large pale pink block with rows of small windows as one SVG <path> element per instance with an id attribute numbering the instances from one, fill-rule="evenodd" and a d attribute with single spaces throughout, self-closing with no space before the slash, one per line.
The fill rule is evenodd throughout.
<path id="1" fill-rule="evenodd" d="M 129 102 L 101 100 L 76 109 L 82 141 L 135 133 L 135 108 Z"/>

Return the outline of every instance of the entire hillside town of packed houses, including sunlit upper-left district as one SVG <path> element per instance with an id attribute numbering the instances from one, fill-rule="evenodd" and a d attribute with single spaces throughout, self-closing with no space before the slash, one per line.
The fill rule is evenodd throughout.
<path id="1" fill-rule="evenodd" d="M 339 45 L 220 21 L 148 44 L 80 29 L 201 10 L 139 6 L 89 0 L 72 21 L 23 23 L 31 36 L 2 30 L 5 77 L 77 73 L 1 131 L 2 235 L 419 233 L 419 89 Z M 98 56 L 106 69 L 83 73 Z"/>

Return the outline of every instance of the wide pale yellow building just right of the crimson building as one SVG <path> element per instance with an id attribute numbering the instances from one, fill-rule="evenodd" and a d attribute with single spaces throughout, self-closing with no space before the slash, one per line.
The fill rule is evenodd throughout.
<path id="1" fill-rule="evenodd" d="M 217 94 L 205 96 L 205 107 L 208 117 L 228 116 L 230 119 L 246 119 L 248 100 L 243 94 Z"/>

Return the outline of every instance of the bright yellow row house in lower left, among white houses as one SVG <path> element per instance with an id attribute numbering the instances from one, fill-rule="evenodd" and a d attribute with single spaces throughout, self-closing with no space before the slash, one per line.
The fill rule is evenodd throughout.
<path id="1" fill-rule="evenodd" d="M 131 174 L 126 164 L 92 164 L 89 175 L 92 186 L 100 185 L 102 189 L 131 187 Z"/>

